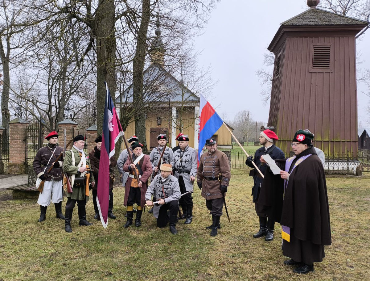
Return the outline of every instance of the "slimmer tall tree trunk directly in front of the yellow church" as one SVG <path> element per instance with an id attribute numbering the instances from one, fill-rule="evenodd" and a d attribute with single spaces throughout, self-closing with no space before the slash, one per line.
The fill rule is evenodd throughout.
<path id="1" fill-rule="evenodd" d="M 143 144 L 143 151 L 147 151 L 145 113 L 143 100 L 143 73 L 145 55 L 147 54 L 147 33 L 150 19 L 150 0 L 142 1 L 142 16 L 140 28 L 137 36 L 136 53 L 133 60 L 133 84 L 134 99 L 133 106 L 135 111 L 135 134 Z"/>

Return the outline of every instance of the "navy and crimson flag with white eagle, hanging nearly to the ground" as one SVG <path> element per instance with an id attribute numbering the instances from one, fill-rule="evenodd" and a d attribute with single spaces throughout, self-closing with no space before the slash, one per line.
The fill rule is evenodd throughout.
<path id="1" fill-rule="evenodd" d="M 106 96 L 102 129 L 101 151 L 98 174 L 97 205 L 101 224 L 108 225 L 109 205 L 109 159 L 114 155 L 114 146 L 120 136 L 124 135 L 120 118 L 115 110 L 107 82 L 104 81 Z"/>

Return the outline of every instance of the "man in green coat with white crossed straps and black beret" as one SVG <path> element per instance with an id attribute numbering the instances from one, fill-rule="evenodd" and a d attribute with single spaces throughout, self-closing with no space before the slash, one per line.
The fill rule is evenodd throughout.
<path id="1" fill-rule="evenodd" d="M 65 231 L 72 232 L 71 219 L 73 208 L 77 202 L 78 218 L 80 225 L 92 225 L 86 220 L 86 202 L 89 199 L 89 186 L 94 186 L 94 175 L 91 173 L 90 159 L 83 151 L 85 138 L 77 135 L 73 139 L 73 148 L 65 152 L 63 171 L 68 176 L 72 193 L 67 194 L 65 204 Z"/>

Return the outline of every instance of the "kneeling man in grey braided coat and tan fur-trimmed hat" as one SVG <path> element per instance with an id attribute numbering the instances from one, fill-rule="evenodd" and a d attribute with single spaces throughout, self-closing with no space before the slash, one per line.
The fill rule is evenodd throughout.
<path id="1" fill-rule="evenodd" d="M 171 175 L 171 164 L 162 164 L 160 171 L 161 173 L 156 175 L 148 186 L 145 200 L 149 208 L 154 205 L 153 215 L 157 218 L 157 227 L 163 228 L 169 221 L 169 231 L 172 234 L 177 234 L 178 199 L 181 198 L 179 182 Z M 153 198 L 157 198 L 156 204 L 151 201 L 152 195 Z M 169 215 L 167 214 L 168 210 Z"/>

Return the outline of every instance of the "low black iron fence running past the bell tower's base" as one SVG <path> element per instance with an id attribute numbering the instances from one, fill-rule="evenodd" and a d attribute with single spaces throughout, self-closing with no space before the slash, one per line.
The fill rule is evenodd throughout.
<path id="1" fill-rule="evenodd" d="M 247 151 L 249 154 L 249 152 Z M 250 152 L 254 157 L 254 152 Z M 290 155 L 286 155 L 290 157 Z M 246 155 L 243 151 L 231 151 L 231 168 L 247 169 L 251 168 L 245 165 Z M 370 151 L 358 151 L 357 158 L 351 157 L 347 153 L 325 153 L 324 170 L 327 174 L 340 175 L 361 175 L 370 171 Z"/>

